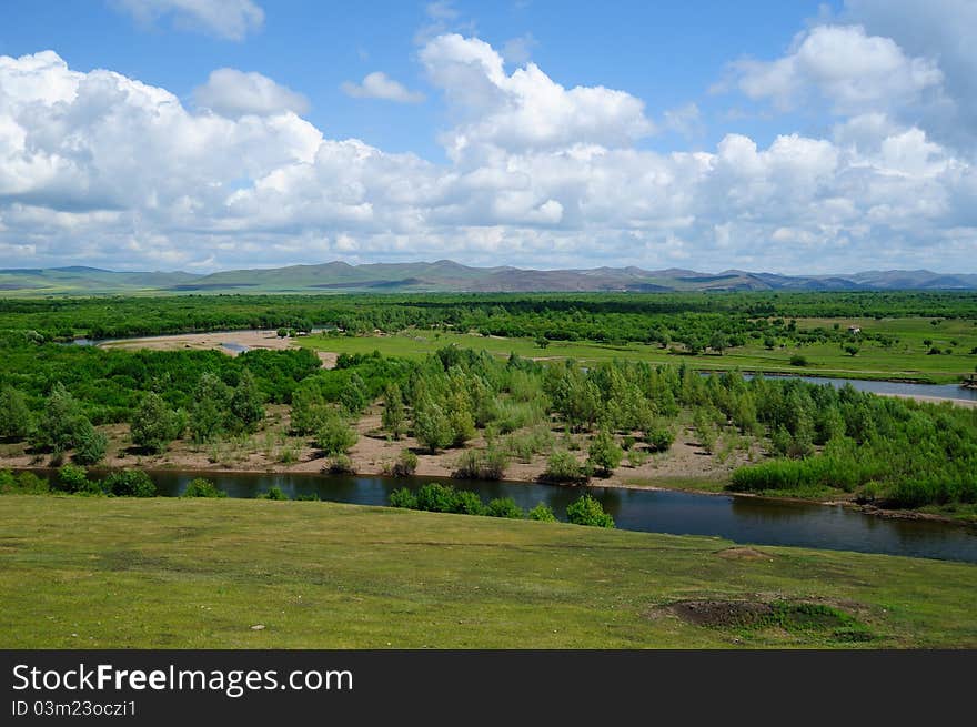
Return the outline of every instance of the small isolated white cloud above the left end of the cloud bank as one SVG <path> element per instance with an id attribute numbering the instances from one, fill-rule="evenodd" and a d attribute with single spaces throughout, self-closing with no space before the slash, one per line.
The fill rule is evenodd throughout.
<path id="1" fill-rule="evenodd" d="M 286 111 L 302 115 L 309 111 L 309 100 L 301 93 L 261 73 L 245 73 L 233 68 L 213 71 L 207 83 L 193 89 L 193 100 L 198 107 L 230 119 Z"/>

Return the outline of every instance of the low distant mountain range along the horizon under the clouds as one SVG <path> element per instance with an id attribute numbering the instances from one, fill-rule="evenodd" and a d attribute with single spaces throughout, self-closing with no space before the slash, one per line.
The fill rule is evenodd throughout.
<path id="1" fill-rule="evenodd" d="M 97 267 L 0 270 L 0 296 L 111 293 L 423 293 L 423 292 L 667 292 L 667 291 L 977 291 L 977 274 L 928 270 L 843 275 L 778 275 L 727 270 L 524 270 L 426 263 L 319 265 L 183 272 L 113 272 Z"/>

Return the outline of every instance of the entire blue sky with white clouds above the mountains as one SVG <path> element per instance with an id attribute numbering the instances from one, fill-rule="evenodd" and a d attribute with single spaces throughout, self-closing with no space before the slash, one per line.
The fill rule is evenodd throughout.
<path id="1" fill-rule="evenodd" d="M 977 0 L 4 0 L 0 266 L 977 272 Z"/>

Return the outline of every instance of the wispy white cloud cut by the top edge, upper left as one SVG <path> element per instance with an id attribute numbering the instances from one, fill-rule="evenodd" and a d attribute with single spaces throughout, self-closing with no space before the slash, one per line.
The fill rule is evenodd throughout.
<path id="1" fill-rule="evenodd" d="M 264 11 L 252 0 L 111 0 L 138 22 L 150 24 L 170 17 L 180 29 L 243 40 L 264 23 Z"/>

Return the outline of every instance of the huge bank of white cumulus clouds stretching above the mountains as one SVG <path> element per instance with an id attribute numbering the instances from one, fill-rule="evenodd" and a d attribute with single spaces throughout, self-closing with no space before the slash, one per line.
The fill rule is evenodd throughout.
<path id="1" fill-rule="evenodd" d="M 0 57 L 0 255 L 195 270 L 445 256 L 973 267 L 973 156 L 888 110 L 837 119 L 829 138 L 727 134 L 666 153 L 636 143 L 653 127 L 623 91 L 565 88 L 534 64 L 507 73 L 461 36 L 421 60 L 453 124 L 447 163 L 325 138 L 289 104 L 212 113 L 51 51 Z"/>

